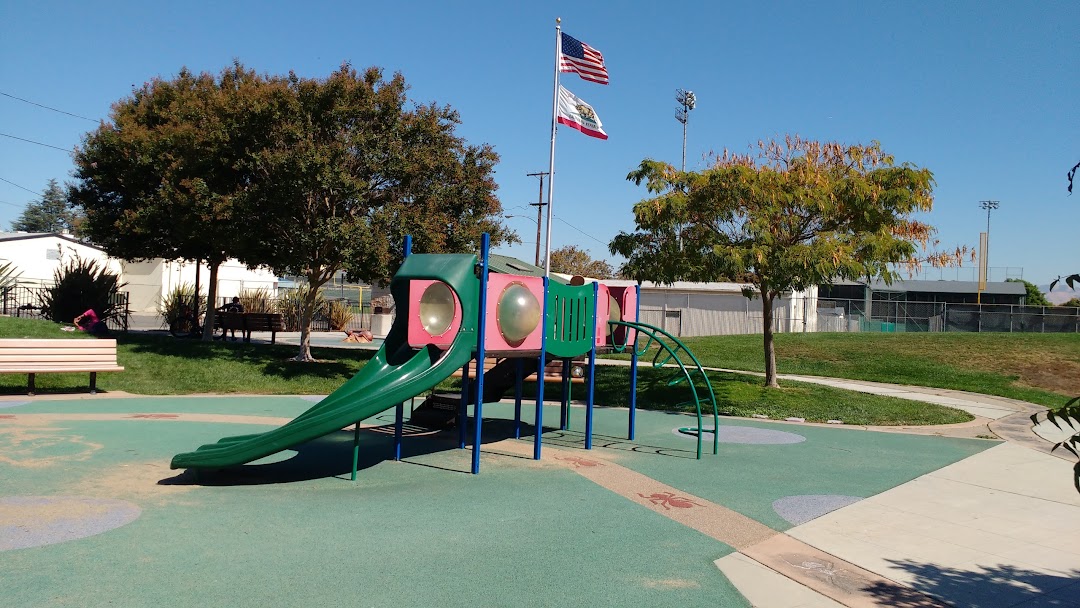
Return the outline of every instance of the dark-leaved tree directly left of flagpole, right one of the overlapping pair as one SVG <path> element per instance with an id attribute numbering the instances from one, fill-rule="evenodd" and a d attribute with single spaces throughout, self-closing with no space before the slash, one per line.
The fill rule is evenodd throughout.
<path id="1" fill-rule="evenodd" d="M 300 352 L 312 361 L 311 316 L 319 288 L 345 270 L 350 281 L 387 283 L 413 237 L 417 253 L 477 251 L 516 241 L 498 221 L 498 154 L 455 133 L 458 113 L 434 104 L 408 107 L 405 79 L 378 68 L 341 66 L 328 78 L 272 79 L 258 146 L 247 150 L 251 179 L 240 200 L 252 224 L 240 259 L 305 279 Z"/>

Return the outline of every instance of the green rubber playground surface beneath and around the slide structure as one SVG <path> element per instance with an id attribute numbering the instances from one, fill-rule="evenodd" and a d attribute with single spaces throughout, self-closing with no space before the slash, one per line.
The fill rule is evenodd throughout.
<path id="1" fill-rule="evenodd" d="M 407 436 L 404 462 L 393 462 L 392 437 L 365 430 L 355 483 L 349 431 L 226 472 L 168 469 L 174 454 L 271 428 L 245 417 L 293 418 L 311 405 L 281 396 L 0 402 L 0 604 L 747 605 L 713 565 L 730 546 L 551 458 L 486 449 L 482 473 L 471 475 L 471 450 L 457 449 L 456 432 Z M 544 409 L 545 445 L 580 449 L 584 410 L 572 408 L 569 430 L 558 431 L 558 408 Z M 191 415 L 202 418 L 184 419 Z M 512 405 L 485 405 L 485 442 L 512 433 Z M 699 461 L 693 438 L 677 432 L 692 420 L 642 411 L 637 438 L 626 442 L 626 411 L 598 408 L 594 447 L 778 530 L 791 526 L 778 499 L 867 497 L 995 445 L 721 419 L 721 438 L 731 427 L 738 441 L 773 443 L 723 443 L 713 456 L 706 435 Z"/>

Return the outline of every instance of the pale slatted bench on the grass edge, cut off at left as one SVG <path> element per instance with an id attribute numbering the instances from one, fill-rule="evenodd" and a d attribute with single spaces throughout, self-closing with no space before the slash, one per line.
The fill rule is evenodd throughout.
<path id="1" fill-rule="evenodd" d="M 98 371 L 123 371 L 112 339 L 0 339 L 0 374 L 26 374 L 33 394 L 37 374 L 90 371 L 90 394 L 97 393 Z"/>

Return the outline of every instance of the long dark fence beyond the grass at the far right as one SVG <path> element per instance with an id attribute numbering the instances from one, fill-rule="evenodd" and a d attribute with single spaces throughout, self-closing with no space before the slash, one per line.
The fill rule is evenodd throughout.
<path id="1" fill-rule="evenodd" d="M 1076 307 L 819 298 L 816 312 L 807 330 L 1080 333 Z"/>

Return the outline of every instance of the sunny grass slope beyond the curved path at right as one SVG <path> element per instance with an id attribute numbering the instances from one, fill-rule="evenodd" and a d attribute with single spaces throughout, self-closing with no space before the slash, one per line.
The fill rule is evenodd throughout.
<path id="1" fill-rule="evenodd" d="M 685 341 L 705 367 L 765 370 L 761 336 Z M 781 374 L 957 389 L 1047 406 L 1080 394 L 1080 334 L 778 334 L 775 347 Z"/>

